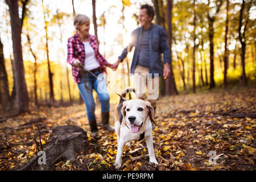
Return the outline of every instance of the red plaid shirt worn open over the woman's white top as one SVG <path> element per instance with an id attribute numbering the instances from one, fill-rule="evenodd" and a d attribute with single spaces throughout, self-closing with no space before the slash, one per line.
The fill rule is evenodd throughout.
<path id="1" fill-rule="evenodd" d="M 93 35 L 88 35 L 88 40 L 89 40 L 90 46 L 92 46 L 92 48 L 95 51 L 95 57 L 96 57 L 96 60 L 98 61 L 98 64 L 100 64 L 100 68 L 102 68 L 102 70 L 106 72 L 105 67 L 109 63 L 98 51 L 98 44 L 97 44 L 96 37 Z M 79 39 L 79 36 L 77 35 L 77 33 L 68 39 L 67 47 L 68 47 L 67 62 L 72 65 L 72 75 L 75 82 L 80 83 L 81 82 L 80 68 L 74 67 L 73 63 L 76 59 L 78 59 L 81 62 L 81 64 L 84 65 L 85 48 L 84 48 L 84 44 Z"/>

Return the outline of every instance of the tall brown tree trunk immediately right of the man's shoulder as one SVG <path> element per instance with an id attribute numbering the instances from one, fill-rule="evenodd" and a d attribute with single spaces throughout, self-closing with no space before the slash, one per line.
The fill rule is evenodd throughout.
<path id="1" fill-rule="evenodd" d="M 166 79 L 167 95 L 178 94 L 176 84 L 175 84 L 175 79 L 174 79 L 174 72 L 172 69 L 172 7 L 173 7 L 172 5 L 173 5 L 173 0 L 168 0 L 166 10 L 167 10 L 167 24 L 168 24 L 168 44 L 170 48 L 170 58 L 171 58 L 171 64 L 170 64 L 171 75 L 169 78 Z"/>

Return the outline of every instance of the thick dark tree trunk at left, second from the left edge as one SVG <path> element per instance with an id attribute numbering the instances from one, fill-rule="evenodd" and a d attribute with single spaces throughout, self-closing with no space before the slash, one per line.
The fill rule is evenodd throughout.
<path id="1" fill-rule="evenodd" d="M 7 0 L 11 19 L 11 38 L 13 40 L 14 54 L 14 76 L 15 87 L 18 100 L 18 113 L 27 112 L 28 109 L 28 92 L 25 80 L 24 64 L 22 58 L 21 46 L 21 21 L 19 18 L 18 0 Z"/>

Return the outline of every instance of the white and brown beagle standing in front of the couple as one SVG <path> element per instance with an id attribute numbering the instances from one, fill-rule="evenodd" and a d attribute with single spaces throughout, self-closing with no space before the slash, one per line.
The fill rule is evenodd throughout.
<path id="1" fill-rule="evenodd" d="M 125 95 L 127 92 L 134 89 L 128 88 L 122 93 L 119 104 L 115 107 L 115 133 L 117 134 L 117 156 L 115 158 L 115 168 L 119 169 L 122 164 L 122 153 L 125 144 L 130 145 L 131 140 L 145 139 L 147 150 L 151 163 L 158 164 L 155 159 L 153 138 L 152 138 L 152 123 L 154 120 L 154 108 L 150 102 L 141 99 L 133 99 L 126 101 Z"/>

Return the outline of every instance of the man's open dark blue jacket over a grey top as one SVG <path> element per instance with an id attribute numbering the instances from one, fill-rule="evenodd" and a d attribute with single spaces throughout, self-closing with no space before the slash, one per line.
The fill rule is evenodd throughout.
<path id="1" fill-rule="evenodd" d="M 163 27 L 156 24 L 151 25 L 151 32 L 149 36 L 149 47 L 150 47 L 150 60 L 148 65 L 148 72 L 158 73 L 159 76 L 163 75 L 163 63 L 171 63 L 170 59 L 170 49 L 167 44 L 166 31 Z M 142 37 L 142 27 L 136 28 L 131 32 L 131 42 L 129 45 L 123 49 L 121 56 L 118 58 L 123 61 L 127 56 L 127 53 L 131 51 L 131 48 L 135 46 L 133 61 L 131 63 L 131 73 L 134 73 L 134 69 L 138 63 L 139 59 L 139 42 Z M 161 53 L 163 53 L 163 63 L 161 61 Z"/>

